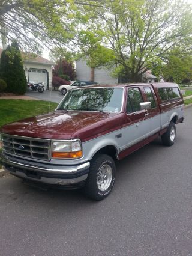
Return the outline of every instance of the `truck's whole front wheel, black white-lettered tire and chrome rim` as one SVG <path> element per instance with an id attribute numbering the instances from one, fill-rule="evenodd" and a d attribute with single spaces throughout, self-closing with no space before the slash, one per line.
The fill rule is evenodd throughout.
<path id="1" fill-rule="evenodd" d="M 115 183 L 115 162 L 107 154 L 97 154 L 91 160 L 85 192 L 89 198 L 102 200 L 109 195 Z"/>

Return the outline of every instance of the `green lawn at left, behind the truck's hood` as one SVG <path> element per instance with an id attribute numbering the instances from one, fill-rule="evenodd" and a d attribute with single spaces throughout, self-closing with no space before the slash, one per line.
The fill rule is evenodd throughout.
<path id="1" fill-rule="evenodd" d="M 53 111 L 57 103 L 43 100 L 11 100 L 0 99 L 0 127 L 26 117 Z"/>

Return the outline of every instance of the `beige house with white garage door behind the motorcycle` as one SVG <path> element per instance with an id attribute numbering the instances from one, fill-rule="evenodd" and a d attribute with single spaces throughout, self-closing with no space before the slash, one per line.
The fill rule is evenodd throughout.
<path id="1" fill-rule="evenodd" d="M 2 49 L 0 48 L 0 55 Z M 22 54 L 23 55 L 23 54 Z M 25 70 L 25 76 L 27 81 L 33 81 L 35 83 L 44 82 L 46 90 L 52 87 L 52 65 L 53 62 L 36 55 L 35 58 L 23 57 L 23 69 Z"/>

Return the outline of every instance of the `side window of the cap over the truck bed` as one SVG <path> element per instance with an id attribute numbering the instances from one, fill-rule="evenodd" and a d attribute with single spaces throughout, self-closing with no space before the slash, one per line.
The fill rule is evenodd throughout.
<path id="1" fill-rule="evenodd" d="M 162 102 L 181 98 L 177 87 L 158 88 L 158 93 L 160 94 Z"/>

